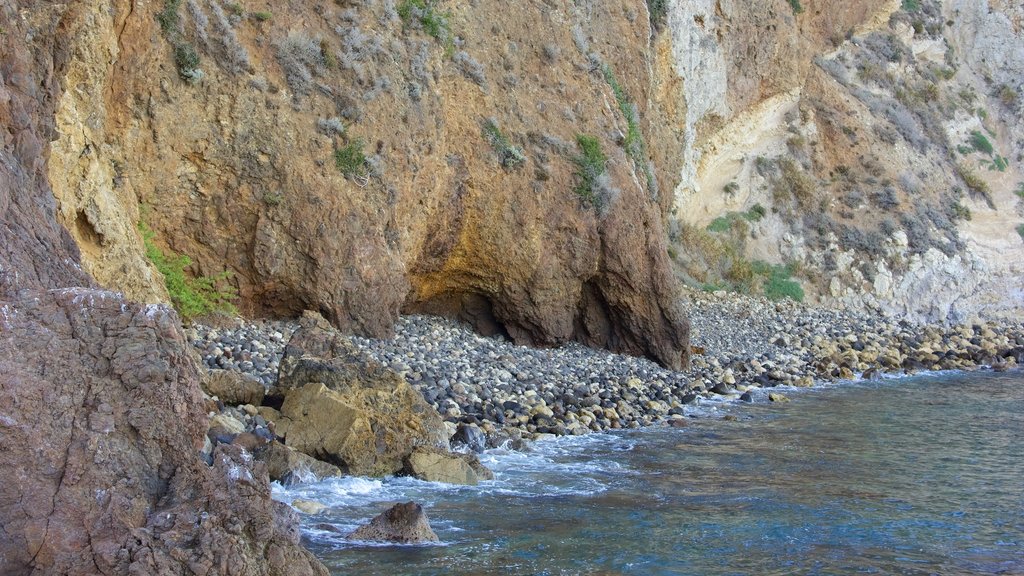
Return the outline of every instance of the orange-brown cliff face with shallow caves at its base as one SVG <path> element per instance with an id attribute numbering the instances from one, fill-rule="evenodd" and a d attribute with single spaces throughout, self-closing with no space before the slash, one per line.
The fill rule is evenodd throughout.
<path id="1" fill-rule="evenodd" d="M 646 6 L 421 4 L 69 8 L 50 177 L 85 269 L 163 298 L 143 217 L 193 272 L 230 271 L 245 314 L 380 336 L 428 311 L 682 365 L 659 191 L 685 106 Z M 186 74 L 175 44 L 199 55 Z M 607 157 L 590 203 L 581 134 Z M 356 149 L 346 176 L 334 155 Z"/>

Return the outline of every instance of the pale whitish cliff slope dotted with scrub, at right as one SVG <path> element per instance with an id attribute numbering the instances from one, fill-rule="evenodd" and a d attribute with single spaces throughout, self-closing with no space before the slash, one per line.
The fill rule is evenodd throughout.
<path id="1" fill-rule="evenodd" d="M 1020 6 L 700 6 L 669 17 L 681 276 L 757 290 L 763 260 L 812 299 L 914 321 L 1024 311 Z"/>

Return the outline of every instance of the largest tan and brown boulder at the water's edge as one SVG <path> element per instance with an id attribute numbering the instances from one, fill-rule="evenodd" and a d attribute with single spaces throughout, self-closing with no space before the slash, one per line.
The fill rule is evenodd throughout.
<path id="1" fill-rule="evenodd" d="M 447 448 L 440 415 L 394 371 L 307 314 L 282 360 L 286 443 L 356 476 L 395 474 L 417 446 Z"/>

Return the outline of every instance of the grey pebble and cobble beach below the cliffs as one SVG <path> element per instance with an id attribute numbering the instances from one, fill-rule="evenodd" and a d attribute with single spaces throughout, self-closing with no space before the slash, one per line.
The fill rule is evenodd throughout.
<path id="1" fill-rule="evenodd" d="M 679 425 L 701 399 L 752 402 L 756 389 L 811 387 L 922 371 L 996 370 L 1024 363 L 1024 323 L 916 326 L 891 318 L 737 294 L 685 298 L 696 354 L 688 370 L 569 343 L 518 346 L 437 317 L 406 316 L 389 339 L 350 337 L 402 375 L 440 413 L 450 436 L 480 438 L 476 451 L 520 439 Z M 253 321 L 195 326 L 208 368 L 248 373 L 272 388 L 297 326 Z M 730 349 L 722 349 L 728 344 Z M 784 397 L 779 398 L 784 400 Z M 467 436 L 461 428 L 471 428 Z"/>

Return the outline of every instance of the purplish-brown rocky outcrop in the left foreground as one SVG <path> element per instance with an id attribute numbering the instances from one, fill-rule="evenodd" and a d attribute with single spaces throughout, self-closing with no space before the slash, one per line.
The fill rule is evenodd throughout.
<path id="1" fill-rule="evenodd" d="M 66 5 L 0 1 L 0 558 L 5 574 L 326 574 L 206 419 L 177 316 L 98 289 L 54 219 Z"/>

